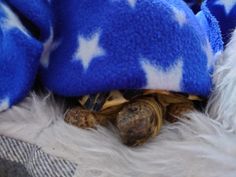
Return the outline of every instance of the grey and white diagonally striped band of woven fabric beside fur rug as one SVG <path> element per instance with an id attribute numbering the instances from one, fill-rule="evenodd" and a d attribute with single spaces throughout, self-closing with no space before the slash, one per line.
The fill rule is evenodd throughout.
<path id="1" fill-rule="evenodd" d="M 31 177 L 72 177 L 77 167 L 75 163 L 44 153 L 36 145 L 4 136 L 0 136 L 0 158 L 17 163 L 8 163 L 6 168 L 17 168 L 17 171 L 23 166 L 22 170 Z M 4 166 L 5 162 L 1 160 L 0 165 Z"/>

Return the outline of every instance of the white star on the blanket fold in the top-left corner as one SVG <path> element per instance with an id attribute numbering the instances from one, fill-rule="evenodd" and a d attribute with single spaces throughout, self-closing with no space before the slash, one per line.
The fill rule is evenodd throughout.
<path id="1" fill-rule="evenodd" d="M 11 30 L 13 28 L 17 28 L 25 35 L 29 36 L 26 28 L 22 25 L 19 18 L 11 11 L 9 7 L 7 7 L 5 4 L 0 4 L 0 8 L 3 9 L 6 15 L 6 18 L 2 21 L 3 29 Z"/>

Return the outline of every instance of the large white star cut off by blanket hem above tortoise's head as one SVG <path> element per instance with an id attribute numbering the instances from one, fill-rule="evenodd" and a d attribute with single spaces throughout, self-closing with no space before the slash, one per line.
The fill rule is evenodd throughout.
<path id="1" fill-rule="evenodd" d="M 182 59 L 178 60 L 178 62 L 167 71 L 164 71 L 161 67 L 152 65 L 146 59 L 142 60 L 141 65 L 146 74 L 146 89 L 181 91 L 183 75 Z"/>

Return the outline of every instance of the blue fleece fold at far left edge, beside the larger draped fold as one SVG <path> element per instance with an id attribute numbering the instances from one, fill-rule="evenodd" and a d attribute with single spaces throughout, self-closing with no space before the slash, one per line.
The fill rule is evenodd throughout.
<path id="1" fill-rule="evenodd" d="M 0 1 L 0 111 L 28 94 L 42 44 L 32 38 L 14 12 Z"/>

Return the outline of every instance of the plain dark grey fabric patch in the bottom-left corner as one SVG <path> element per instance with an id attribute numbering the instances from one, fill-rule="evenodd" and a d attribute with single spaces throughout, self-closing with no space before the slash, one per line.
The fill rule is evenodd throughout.
<path id="1" fill-rule="evenodd" d="M 24 165 L 0 158 L 0 177 L 31 177 Z"/>

